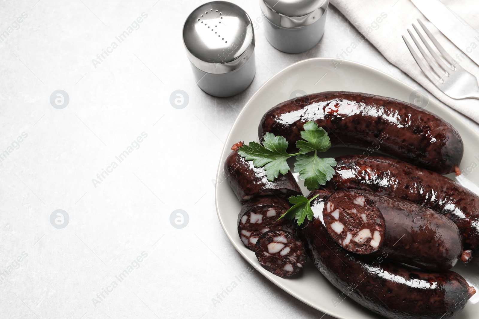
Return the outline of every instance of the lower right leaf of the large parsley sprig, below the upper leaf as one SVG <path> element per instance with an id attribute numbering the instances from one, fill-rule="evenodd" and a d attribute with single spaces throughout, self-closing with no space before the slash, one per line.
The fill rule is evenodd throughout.
<path id="1" fill-rule="evenodd" d="M 319 188 L 320 185 L 326 184 L 334 175 L 336 161 L 332 157 L 320 158 L 313 156 L 298 155 L 295 162 L 295 171 L 299 173 L 299 178 L 304 180 L 304 185 L 308 190 Z"/>

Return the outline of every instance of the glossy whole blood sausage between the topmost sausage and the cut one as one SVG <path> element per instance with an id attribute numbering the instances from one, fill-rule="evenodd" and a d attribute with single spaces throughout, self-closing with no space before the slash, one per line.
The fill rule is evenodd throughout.
<path id="1" fill-rule="evenodd" d="M 464 249 L 479 255 L 479 197 L 440 174 L 382 156 L 336 158 L 336 174 L 324 189 L 353 188 L 390 195 L 432 209 L 457 225 Z M 474 261 L 478 263 L 479 260 Z"/>

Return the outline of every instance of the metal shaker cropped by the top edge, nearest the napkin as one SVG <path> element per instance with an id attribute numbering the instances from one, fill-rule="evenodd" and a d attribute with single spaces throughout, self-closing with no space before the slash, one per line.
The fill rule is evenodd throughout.
<path id="1" fill-rule="evenodd" d="M 285 53 L 308 51 L 324 33 L 329 0 L 260 0 L 266 39 Z"/>

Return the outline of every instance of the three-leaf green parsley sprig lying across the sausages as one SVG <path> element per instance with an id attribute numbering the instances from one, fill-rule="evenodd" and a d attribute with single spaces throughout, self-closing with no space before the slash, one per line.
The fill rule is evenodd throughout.
<path id="1" fill-rule="evenodd" d="M 318 152 L 326 152 L 331 147 L 331 141 L 328 133 L 316 122 L 306 122 L 303 129 L 301 138 L 304 141 L 296 142 L 298 153 L 288 154 L 286 139 L 267 132 L 264 134 L 262 145 L 250 142 L 249 145 L 241 146 L 238 154 L 246 160 L 252 160 L 255 167 L 264 166 L 269 181 L 274 181 L 280 173 L 286 174 L 290 169 L 287 159 L 296 156 L 294 166 L 299 178 L 305 181 L 308 190 L 319 188 L 334 175 L 333 166 L 336 165 L 334 158 L 318 156 Z M 311 152 L 314 154 L 308 155 Z"/>

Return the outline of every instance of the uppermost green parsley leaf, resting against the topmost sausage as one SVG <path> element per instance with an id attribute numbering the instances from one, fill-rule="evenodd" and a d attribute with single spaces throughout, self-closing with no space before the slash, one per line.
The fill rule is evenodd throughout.
<path id="1" fill-rule="evenodd" d="M 303 125 L 304 131 L 301 131 L 301 137 L 305 141 L 297 141 L 296 147 L 301 154 L 307 154 L 312 151 L 326 152 L 331 147 L 328 132 L 324 131 L 318 123 L 309 121 Z"/>

